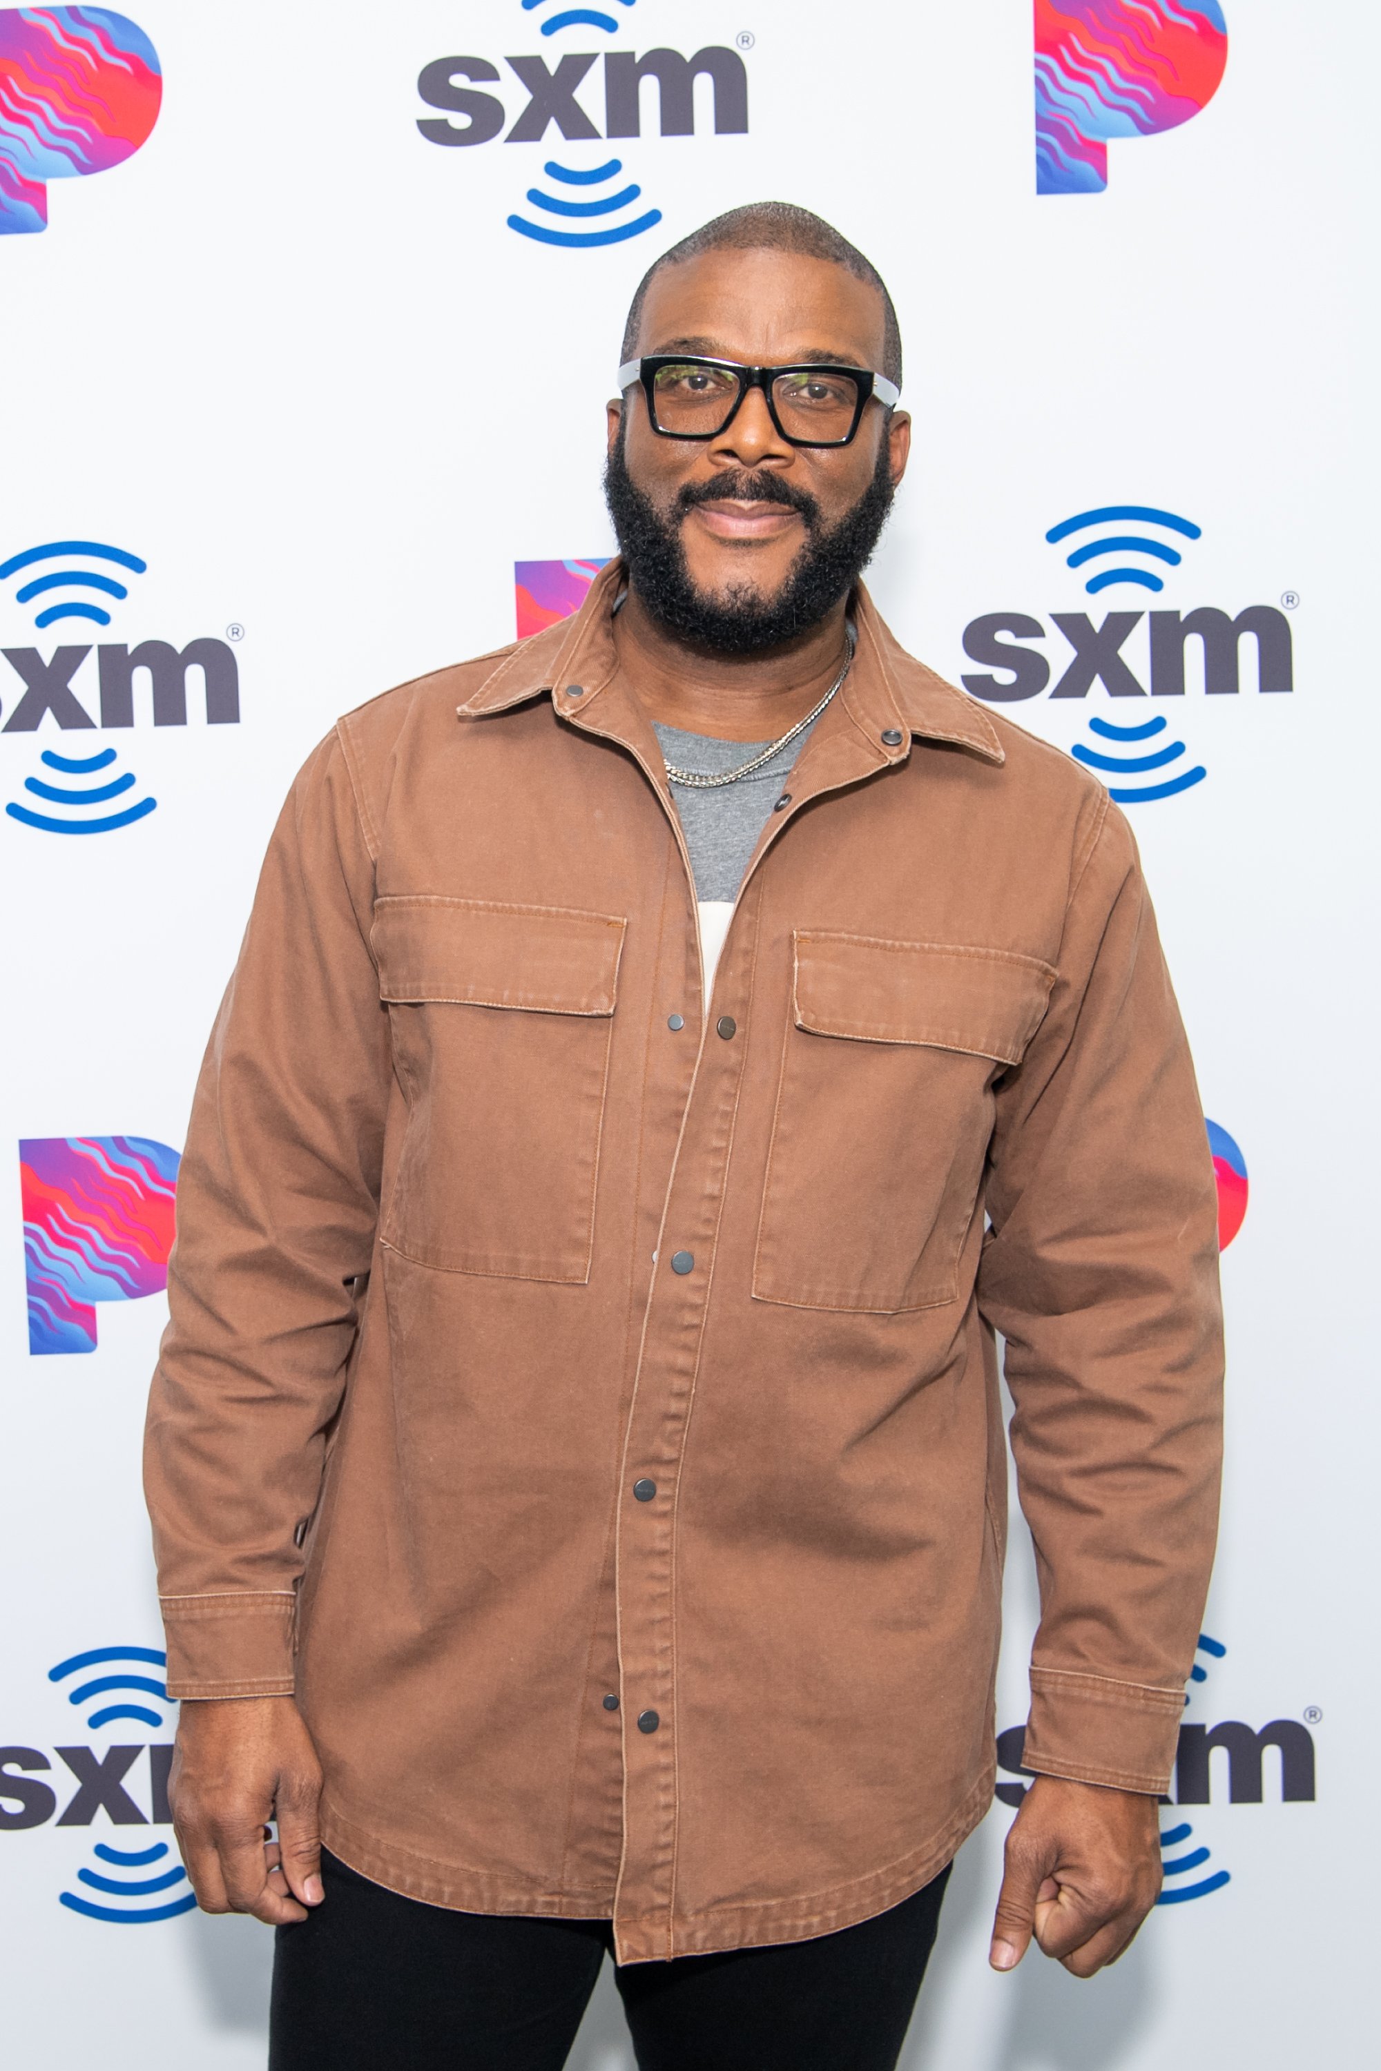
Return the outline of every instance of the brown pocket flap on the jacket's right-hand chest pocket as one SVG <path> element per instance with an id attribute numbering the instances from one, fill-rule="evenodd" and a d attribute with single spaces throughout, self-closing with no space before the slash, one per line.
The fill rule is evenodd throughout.
<path id="1" fill-rule="evenodd" d="M 1010 949 L 795 934 L 795 1025 L 814 1036 L 925 1044 L 1019 1064 L 1054 980 L 1039 957 Z"/>

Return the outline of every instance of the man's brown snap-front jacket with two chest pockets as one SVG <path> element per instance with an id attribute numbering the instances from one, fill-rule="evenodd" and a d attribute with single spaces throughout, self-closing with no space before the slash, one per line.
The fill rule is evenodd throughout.
<path id="1" fill-rule="evenodd" d="M 302 770 L 197 1091 L 147 1481 L 170 1688 L 296 1690 L 331 1849 L 613 1914 L 638 1961 L 868 1918 L 981 1818 L 994 1332 L 1027 1762 L 1166 1787 L 1222 1361 L 1106 791 L 859 594 L 706 1009 L 615 580 Z"/>

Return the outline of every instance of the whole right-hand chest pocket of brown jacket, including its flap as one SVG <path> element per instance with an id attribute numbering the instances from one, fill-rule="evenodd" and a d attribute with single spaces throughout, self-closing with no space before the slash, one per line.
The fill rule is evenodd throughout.
<path id="1" fill-rule="evenodd" d="M 992 1087 L 1054 975 L 1010 951 L 795 934 L 760 1301 L 894 1313 L 954 1299 Z"/>

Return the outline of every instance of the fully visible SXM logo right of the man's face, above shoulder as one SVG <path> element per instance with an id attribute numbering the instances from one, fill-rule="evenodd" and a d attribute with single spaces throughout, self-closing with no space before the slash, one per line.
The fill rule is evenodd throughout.
<path id="1" fill-rule="evenodd" d="M 1046 532 L 1046 543 L 1060 551 L 1087 596 L 1108 590 L 1162 594 L 1176 580 L 1186 551 L 1201 538 L 1203 526 L 1193 518 L 1153 503 L 1101 503 L 1062 518 Z M 1292 599 L 1286 596 L 1286 603 Z M 1240 692 L 1246 638 L 1257 652 L 1257 690 L 1294 690 L 1290 619 L 1273 605 L 1248 605 L 1236 615 L 1215 605 L 1199 605 L 1188 613 L 1108 611 L 1097 623 L 1087 611 L 1052 611 L 1050 621 L 1073 648 L 1054 688 L 1050 659 L 1027 644 L 1048 638 L 1044 621 L 1029 611 L 988 611 L 965 628 L 963 650 L 969 661 L 1002 673 L 963 675 L 965 690 L 992 704 L 1039 698 L 1046 690 L 1052 698 L 1087 698 L 1095 683 L 1110 698 L 1145 698 L 1147 683 L 1122 652 L 1143 625 L 1147 654 L 1137 667 L 1149 673 L 1151 698 L 1186 694 L 1191 640 L 1199 642 L 1203 690 L 1209 698 Z M 1164 710 L 1141 717 L 1122 706 L 1116 719 L 1093 714 L 1089 733 L 1091 739 L 1079 741 L 1073 754 L 1097 770 L 1120 806 L 1176 797 L 1207 777 L 1201 762 L 1186 758 L 1186 743 L 1170 737 Z"/>

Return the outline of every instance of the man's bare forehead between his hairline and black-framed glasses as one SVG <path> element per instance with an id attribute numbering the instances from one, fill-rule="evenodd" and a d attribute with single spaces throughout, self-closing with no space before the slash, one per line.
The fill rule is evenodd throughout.
<path id="1" fill-rule="evenodd" d="M 882 296 L 830 259 L 708 251 L 663 267 L 642 307 L 642 352 L 880 364 Z"/>

